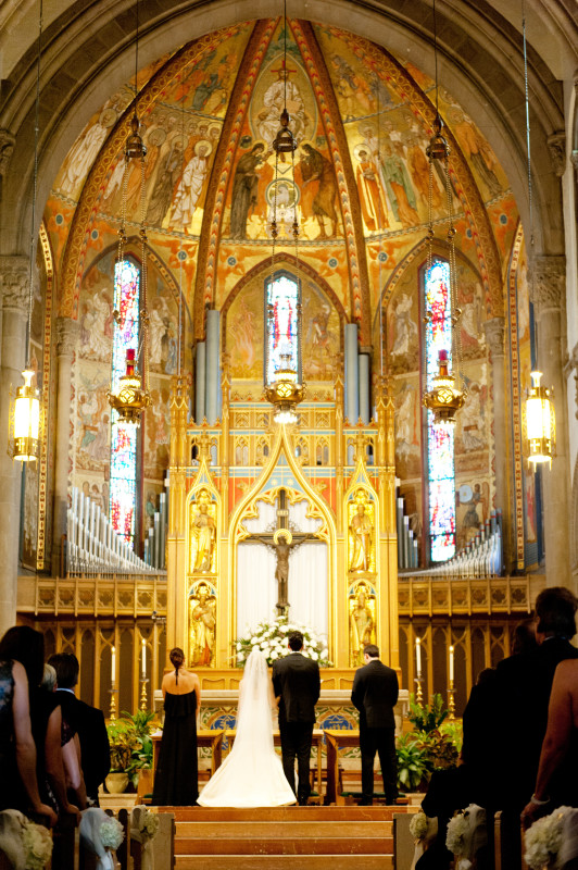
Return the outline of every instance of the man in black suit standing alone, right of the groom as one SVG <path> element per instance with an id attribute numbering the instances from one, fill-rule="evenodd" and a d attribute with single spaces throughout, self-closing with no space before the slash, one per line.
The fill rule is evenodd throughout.
<path id="1" fill-rule="evenodd" d="M 399 684 L 395 671 L 379 661 L 379 649 L 367 644 L 365 664 L 355 671 L 351 700 L 360 711 L 360 749 L 362 754 L 362 806 L 374 801 L 374 759 L 379 755 L 386 803 L 398 798 L 395 720 Z"/>

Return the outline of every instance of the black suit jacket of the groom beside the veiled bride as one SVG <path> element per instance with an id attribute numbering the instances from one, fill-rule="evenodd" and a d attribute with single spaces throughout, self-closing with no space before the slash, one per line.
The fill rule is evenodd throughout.
<path id="1" fill-rule="evenodd" d="M 322 683 L 319 666 L 301 652 L 273 662 L 273 691 L 279 700 L 279 724 L 315 722 Z"/>

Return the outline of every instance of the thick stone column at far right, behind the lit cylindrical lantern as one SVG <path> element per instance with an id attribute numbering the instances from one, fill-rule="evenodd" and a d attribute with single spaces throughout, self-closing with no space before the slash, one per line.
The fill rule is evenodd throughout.
<path id="1" fill-rule="evenodd" d="M 542 384 L 554 389 L 556 458 L 544 468 L 543 511 L 546 585 L 570 585 L 568 428 L 563 366 L 563 307 L 566 299 L 566 258 L 536 257 L 531 264 L 531 301 L 537 323 L 537 360 Z M 565 340 L 565 339 L 564 339 Z"/>

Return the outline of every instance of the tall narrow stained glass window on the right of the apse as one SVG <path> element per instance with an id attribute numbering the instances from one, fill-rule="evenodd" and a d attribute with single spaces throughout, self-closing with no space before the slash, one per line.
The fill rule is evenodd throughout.
<path id="1" fill-rule="evenodd" d="M 450 265 L 434 260 L 425 272 L 425 307 L 431 313 L 426 323 L 426 384 L 434 386 L 440 350 L 452 361 L 452 302 Z M 453 427 L 434 423 L 427 412 L 427 459 L 429 545 L 432 562 L 443 562 L 455 555 L 455 475 Z"/>

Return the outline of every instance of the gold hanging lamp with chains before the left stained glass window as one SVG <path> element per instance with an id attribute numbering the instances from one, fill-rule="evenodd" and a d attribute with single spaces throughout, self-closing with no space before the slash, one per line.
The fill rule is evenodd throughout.
<path id="1" fill-rule="evenodd" d="M 139 36 L 139 3 L 137 0 L 137 30 L 135 50 L 135 92 L 138 95 L 138 36 Z M 118 273 L 121 264 L 125 258 L 126 237 L 126 188 L 128 182 L 128 170 L 130 161 L 140 162 L 140 254 L 141 254 L 141 301 L 139 312 L 139 347 L 138 356 L 135 348 L 126 350 L 125 374 L 111 383 L 108 391 L 109 403 L 118 414 L 118 419 L 127 425 L 140 425 L 140 419 L 146 408 L 151 405 L 149 390 L 149 358 L 148 358 L 148 332 L 149 314 L 147 311 L 147 226 L 146 226 L 146 198 L 144 198 L 144 158 L 147 147 L 140 136 L 140 121 L 138 117 L 138 97 L 135 96 L 135 112 L 130 120 L 130 134 L 128 135 L 125 148 L 124 160 L 125 169 L 123 174 L 123 200 L 121 207 L 121 226 L 118 228 L 118 249 L 116 253 L 116 270 Z M 124 315 L 122 311 L 114 312 L 115 328 L 122 328 Z M 140 364 L 140 368 L 139 368 Z"/>

